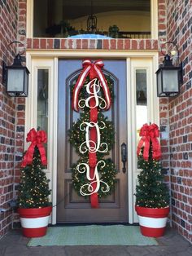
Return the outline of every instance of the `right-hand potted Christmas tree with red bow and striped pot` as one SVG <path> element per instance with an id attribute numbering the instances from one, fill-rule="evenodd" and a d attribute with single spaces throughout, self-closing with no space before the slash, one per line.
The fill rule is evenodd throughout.
<path id="1" fill-rule="evenodd" d="M 169 213 L 169 192 L 159 162 L 159 128 L 146 124 L 139 135 L 142 139 L 137 147 L 137 165 L 142 171 L 137 176 L 135 210 L 142 235 L 163 236 Z"/>

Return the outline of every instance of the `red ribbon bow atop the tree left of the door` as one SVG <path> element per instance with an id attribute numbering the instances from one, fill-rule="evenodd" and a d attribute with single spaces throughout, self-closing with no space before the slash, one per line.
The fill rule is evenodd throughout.
<path id="1" fill-rule="evenodd" d="M 47 165 L 46 150 L 45 150 L 45 148 L 42 144 L 42 143 L 47 142 L 45 130 L 36 131 L 34 128 L 31 129 L 28 132 L 26 141 L 31 142 L 31 145 L 28 147 L 28 151 L 24 155 L 24 160 L 21 163 L 21 167 L 25 167 L 25 166 L 30 165 L 32 163 L 33 153 L 34 153 L 34 149 L 35 149 L 36 146 L 37 146 L 37 148 L 40 152 L 41 163 L 42 163 L 43 166 L 46 166 Z"/>

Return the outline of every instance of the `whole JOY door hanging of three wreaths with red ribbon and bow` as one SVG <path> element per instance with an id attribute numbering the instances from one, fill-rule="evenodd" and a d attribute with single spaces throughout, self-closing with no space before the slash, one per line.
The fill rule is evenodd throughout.
<path id="1" fill-rule="evenodd" d="M 83 111 L 69 130 L 69 141 L 80 156 L 72 166 L 72 183 L 79 195 L 90 196 L 91 206 L 98 208 L 98 198 L 110 195 L 116 183 L 116 168 L 111 158 L 103 158 L 115 142 L 113 124 L 102 113 L 111 107 L 114 95 L 113 82 L 97 66 L 103 62 L 92 64 L 87 60 L 87 63 L 76 85 L 71 86 L 72 108 Z"/>

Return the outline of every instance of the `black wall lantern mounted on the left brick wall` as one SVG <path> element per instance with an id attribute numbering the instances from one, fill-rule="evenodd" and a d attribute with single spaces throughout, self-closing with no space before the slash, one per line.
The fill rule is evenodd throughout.
<path id="1" fill-rule="evenodd" d="M 13 41 L 13 43 L 21 42 Z M 24 45 L 23 45 L 24 46 Z M 27 97 L 28 96 L 28 68 L 22 65 L 21 54 L 17 54 L 11 66 L 7 66 L 2 62 L 2 82 L 6 85 L 7 94 L 11 97 Z"/>

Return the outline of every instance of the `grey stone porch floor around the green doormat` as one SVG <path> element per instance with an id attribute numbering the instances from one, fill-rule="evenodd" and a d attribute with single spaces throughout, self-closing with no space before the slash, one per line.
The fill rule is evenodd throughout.
<path id="1" fill-rule="evenodd" d="M 89 234 L 88 234 L 89 236 Z M 167 228 L 163 237 L 157 239 L 159 245 L 87 245 L 87 246 L 43 246 L 28 247 L 29 239 L 22 236 L 20 229 L 11 230 L 0 240 L 1 256 L 191 256 L 192 245 Z"/>

